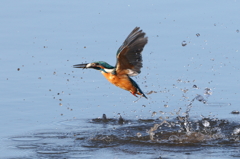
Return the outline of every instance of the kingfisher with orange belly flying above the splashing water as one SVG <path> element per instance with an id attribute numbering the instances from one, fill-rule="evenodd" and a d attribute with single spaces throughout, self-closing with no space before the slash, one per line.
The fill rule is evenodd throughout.
<path id="1" fill-rule="evenodd" d="M 115 66 L 111 66 L 104 61 L 97 61 L 76 64 L 73 65 L 73 67 L 99 70 L 110 83 L 129 91 L 136 97 L 140 95 L 147 99 L 138 84 L 131 78 L 131 76 L 136 76 L 141 73 L 143 66 L 142 51 L 147 42 L 148 37 L 145 36 L 145 33 L 140 30 L 139 27 L 135 27 L 119 47 Z"/>

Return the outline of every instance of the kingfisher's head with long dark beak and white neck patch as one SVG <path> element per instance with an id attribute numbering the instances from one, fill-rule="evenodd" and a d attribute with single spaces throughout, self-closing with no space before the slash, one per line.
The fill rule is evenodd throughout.
<path id="1" fill-rule="evenodd" d="M 93 68 L 95 70 L 103 71 L 105 73 L 112 72 L 115 67 L 109 65 L 104 61 L 97 61 L 92 63 L 73 65 L 74 68 Z"/>

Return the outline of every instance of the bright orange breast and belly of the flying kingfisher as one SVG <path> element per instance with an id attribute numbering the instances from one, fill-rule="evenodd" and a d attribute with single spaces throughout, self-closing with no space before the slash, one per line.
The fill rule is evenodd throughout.
<path id="1" fill-rule="evenodd" d="M 114 84 L 115 86 L 125 89 L 127 91 L 130 91 L 132 93 L 137 92 L 137 88 L 132 85 L 127 75 L 116 76 L 111 73 L 105 73 L 105 72 L 102 72 L 102 74 L 110 83 Z"/>

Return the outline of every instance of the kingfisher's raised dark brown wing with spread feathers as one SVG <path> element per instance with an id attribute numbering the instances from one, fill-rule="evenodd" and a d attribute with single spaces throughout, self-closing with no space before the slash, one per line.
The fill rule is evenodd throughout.
<path id="1" fill-rule="evenodd" d="M 145 33 L 139 29 L 139 27 L 133 29 L 118 49 L 116 73 L 125 72 L 129 76 L 136 76 L 141 72 L 141 53 L 148 42 L 148 38 L 145 37 Z"/>

